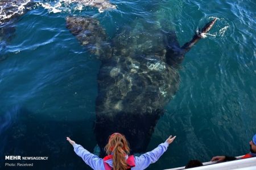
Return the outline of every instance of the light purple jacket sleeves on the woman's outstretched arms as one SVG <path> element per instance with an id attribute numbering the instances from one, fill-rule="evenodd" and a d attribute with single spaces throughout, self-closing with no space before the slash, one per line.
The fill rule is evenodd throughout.
<path id="1" fill-rule="evenodd" d="M 154 150 L 142 154 L 141 156 L 134 156 L 135 167 L 131 168 L 131 170 L 142 170 L 146 169 L 150 164 L 155 163 L 160 156 L 167 150 L 169 144 L 167 142 L 159 144 Z M 80 144 L 73 144 L 74 151 L 78 156 L 84 160 L 86 164 L 88 164 L 92 169 L 95 170 L 105 170 L 103 159 L 90 153 L 85 150 Z M 127 159 L 128 156 L 126 156 Z M 113 167 L 112 159 L 106 160 L 111 167 Z"/>

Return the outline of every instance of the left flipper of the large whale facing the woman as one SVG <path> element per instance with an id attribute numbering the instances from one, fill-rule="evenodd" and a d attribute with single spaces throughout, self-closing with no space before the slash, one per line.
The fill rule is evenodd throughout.
<path id="1" fill-rule="evenodd" d="M 100 60 L 109 59 L 112 52 L 106 33 L 94 18 L 68 16 L 66 27 L 76 36 L 81 45 L 88 48 Z"/>

